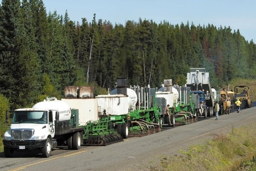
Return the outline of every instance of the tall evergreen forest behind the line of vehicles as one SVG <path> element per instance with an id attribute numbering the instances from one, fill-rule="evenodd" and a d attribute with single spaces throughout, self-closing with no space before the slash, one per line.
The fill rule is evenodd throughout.
<path id="1" fill-rule="evenodd" d="M 119 77 L 140 87 L 167 78 L 184 85 L 197 67 L 207 69 L 212 86 L 256 78 L 256 45 L 239 29 L 142 19 L 123 26 L 92 16 L 79 23 L 67 11 L 47 14 L 43 0 L 2 0 L 0 95 L 11 108 L 60 99 L 65 86 L 112 90 Z"/>

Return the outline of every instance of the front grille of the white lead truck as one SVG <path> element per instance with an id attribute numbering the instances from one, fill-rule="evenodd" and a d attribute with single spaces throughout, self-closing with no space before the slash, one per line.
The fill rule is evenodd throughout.
<path id="1" fill-rule="evenodd" d="M 34 129 L 13 129 L 12 138 L 15 140 L 29 140 L 34 135 Z"/>

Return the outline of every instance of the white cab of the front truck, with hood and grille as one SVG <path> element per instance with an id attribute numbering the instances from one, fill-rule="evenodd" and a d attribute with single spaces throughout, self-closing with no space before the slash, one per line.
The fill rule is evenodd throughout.
<path id="1" fill-rule="evenodd" d="M 50 115 L 51 113 L 51 115 Z M 33 108 L 17 109 L 13 113 L 10 129 L 3 136 L 4 153 L 12 157 L 14 151 L 43 149 L 47 139 L 54 137 L 52 113 L 55 111 Z M 51 146 L 47 146 L 43 155 L 47 155 Z"/>

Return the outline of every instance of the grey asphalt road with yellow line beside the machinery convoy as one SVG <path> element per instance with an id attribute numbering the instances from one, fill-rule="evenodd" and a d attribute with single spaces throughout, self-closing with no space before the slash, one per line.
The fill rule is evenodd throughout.
<path id="1" fill-rule="evenodd" d="M 108 146 L 84 146 L 79 151 L 60 147 L 49 158 L 37 153 L 18 152 L 13 158 L 5 158 L 0 153 L 0 171 L 149 171 L 150 165 L 158 162 L 159 156 L 176 154 L 189 145 L 202 143 L 205 139 L 255 121 L 255 107 L 251 107 L 242 109 L 240 113 L 220 115 L 218 121 L 212 117 Z"/>

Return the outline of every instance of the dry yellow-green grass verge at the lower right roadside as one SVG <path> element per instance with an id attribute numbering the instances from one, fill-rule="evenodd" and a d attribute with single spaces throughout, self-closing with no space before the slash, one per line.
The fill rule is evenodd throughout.
<path id="1" fill-rule="evenodd" d="M 256 123 L 191 145 L 177 155 L 160 157 L 151 171 L 242 171 L 256 169 Z M 245 170 L 244 170 L 245 171 Z"/>

